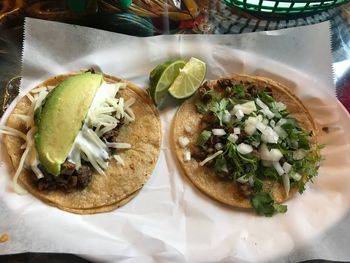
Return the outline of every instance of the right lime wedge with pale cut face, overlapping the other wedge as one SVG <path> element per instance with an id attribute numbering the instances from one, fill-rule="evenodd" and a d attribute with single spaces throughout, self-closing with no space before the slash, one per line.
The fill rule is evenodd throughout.
<path id="1" fill-rule="evenodd" d="M 191 96 L 202 84 L 205 73 L 205 63 L 197 58 L 191 58 L 171 84 L 169 93 L 177 99 Z"/>

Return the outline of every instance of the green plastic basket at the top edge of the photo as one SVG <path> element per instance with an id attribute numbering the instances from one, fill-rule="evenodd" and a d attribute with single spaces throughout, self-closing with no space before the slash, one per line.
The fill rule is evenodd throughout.
<path id="1" fill-rule="evenodd" d="M 245 11 L 259 14 L 297 15 L 320 12 L 350 0 L 225 0 Z"/>

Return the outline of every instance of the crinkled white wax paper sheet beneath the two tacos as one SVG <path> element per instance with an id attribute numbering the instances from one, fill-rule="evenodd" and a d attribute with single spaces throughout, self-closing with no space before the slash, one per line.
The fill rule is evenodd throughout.
<path id="1" fill-rule="evenodd" d="M 197 57 L 206 78 L 247 73 L 273 78 L 299 96 L 326 144 L 319 176 L 272 218 L 224 206 L 180 172 L 170 148 L 176 103 L 161 112 L 157 166 L 141 192 L 109 213 L 75 215 L 13 192 L 1 146 L 0 253 L 64 252 L 111 262 L 265 262 L 350 258 L 349 115 L 334 95 L 329 23 L 241 35 L 137 38 L 26 19 L 21 95 L 57 74 L 94 67 L 148 86 L 167 59 Z M 14 102 L 15 103 L 15 102 Z M 14 104 L 2 119 L 5 122 Z"/>

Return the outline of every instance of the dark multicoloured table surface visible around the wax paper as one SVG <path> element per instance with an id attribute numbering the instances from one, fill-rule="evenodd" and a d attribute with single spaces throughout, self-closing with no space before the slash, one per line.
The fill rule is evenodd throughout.
<path id="1" fill-rule="evenodd" d="M 20 84 L 25 16 L 136 36 L 181 33 L 239 34 L 329 20 L 337 97 L 350 111 L 350 3 L 321 13 L 281 17 L 252 15 L 227 6 L 223 1 L 139 0 L 133 1 L 126 9 L 121 9 L 115 4 L 120 1 L 113 0 L 81 0 L 80 2 L 84 3 L 82 6 L 72 5 L 72 2 L 3 0 L 0 3 L 0 117 L 8 103 L 17 95 Z M 26 253 L 14 257 L 0 256 L 0 261 L 46 262 L 48 258 L 52 259 L 50 255 Z M 55 258 L 59 260 L 57 262 L 86 262 L 69 255 L 56 255 Z"/>

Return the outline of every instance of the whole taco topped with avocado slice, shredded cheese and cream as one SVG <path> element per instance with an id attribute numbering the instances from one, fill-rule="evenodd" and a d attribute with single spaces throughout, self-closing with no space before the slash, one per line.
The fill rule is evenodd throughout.
<path id="1" fill-rule="evenodd" d="M 131 200 L 151 176 L 161 140 L 147 93 L 94 72 L 44 81 L 19 100 L 0 131 L 15 189 L 77 214 Z"/>

